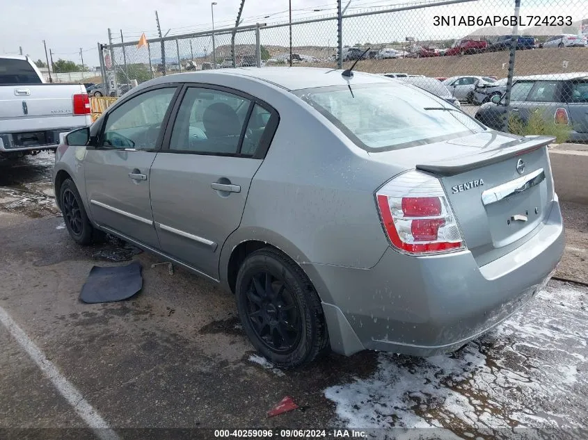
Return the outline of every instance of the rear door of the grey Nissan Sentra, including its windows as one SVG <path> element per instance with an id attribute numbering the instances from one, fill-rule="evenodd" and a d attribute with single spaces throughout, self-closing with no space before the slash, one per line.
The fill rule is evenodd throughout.
<path id="1" fill-rule="evenodd" d="M 239 227 L 278 114 L 235 90 L 190 85 L 174 117 L 151 167 L 161 250 L 218 279 L 221 248 Z"/>

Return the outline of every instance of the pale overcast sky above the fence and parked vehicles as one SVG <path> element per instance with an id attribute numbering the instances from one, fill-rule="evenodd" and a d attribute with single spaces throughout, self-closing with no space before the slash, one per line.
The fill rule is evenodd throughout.
<path id="1" fill-rule="evenodd" d="M 585 0 L 522 0 L 527 13 L 573 13 L 575 18 L 582 14 Z M 0 53 L 18 54 L 22 47 L 24 54 L 37 60 L 45 60 L 43 40 L 47 51 L 58 58 L 81 63 L 79 49 L 82 48 L 84 63 L 98 65 L 97 42 L 108 42 L 108 28 L 120 42 L 122 29 L 125 41 L 138 40 L 141 33 L 157 35 L 155 13 L 159 13 L 161 30 L 169 35 L 211 28 L 211 2 L 200 0 L 100 0 L 92 3 L 72 3 L 71 0 L 4 0 L 0 15 Z M 235 24 L 240 0 L 216 0 L 214 22 L 216 28 Z M 346 4 L 347 0 L 343 0 Z M 406 0 L 351 0 L 347 13 L 358 13 L 366 7 L 393 6 Z M 414 36 L 421 40 L 429 38 L 459 38 L 475 28 L 433 26 L 434 15 L 459 14 L 506 14 L 511 10 L 512 0 L 478 0 L 463 5 L 428 8 L 392 15 L 374 15 L 349 19 L 344 22 L 344 43 L 404 40 Z M 529 5 L 541 5 L 530 8 Z M 336 13 L 335 0 L 292 0 L 294 19 L 333 15 Z M 314 9 L 318 9 L 315 11 Z M 244 6 L 244 24 L 255 22 L 285 22 L 288 14 L 287 0 L 247 0 Z M 270 15 L 270 17 L 264 17 Z M 271 32 L 270 32 L 271 31 Z M 295 26 L 294 44 L 320 44 L 335 47 L 336 22 Z M 244 35 L 245 37 L 246 35 Z M 262 44 L 278 43 L 287 45 L 287 27 L 268 29 L 262 33 Z M 167 51 L 167 50 L 166 50 Z"/>

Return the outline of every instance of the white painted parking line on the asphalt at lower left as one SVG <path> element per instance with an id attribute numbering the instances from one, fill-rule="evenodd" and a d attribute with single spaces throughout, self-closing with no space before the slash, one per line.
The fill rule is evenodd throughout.
<path id="1" fill-rule="evenodd" d="M 109 427 L 108 423 L 104 421 L 104 418 L 77 391 L 75 386 L 59 373 L 56 366 L 47 359 L 45 354 L 31 341 L 29 336 L 26 336 L 26 333 L 15 323 L 13 318 L 10 318 L 8 312 L 2 307 L 0 307 L 0 323 L 6 327 L 8 332 L 16 339 L 17 343 L 26 351 L 26 354 L 35 361 L 35 364 L 37 364 L 40 370 L 49 377 L 49 380 L 51 380 L 51 383 L 59 391 L 61 396 L 72 405 L 74 412 L 88 424 L 98 438 L 101 440 L 120 440 L 118 434 Z"/>

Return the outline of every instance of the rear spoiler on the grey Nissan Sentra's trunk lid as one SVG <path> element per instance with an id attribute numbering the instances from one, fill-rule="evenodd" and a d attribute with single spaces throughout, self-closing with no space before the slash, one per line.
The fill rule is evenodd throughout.
<path id="1" fill-rule="evenodd" d="M 521 156 L 535 149 L 545 147 L 555 140 L 547 136 L 525 136 L 521 140 L 514 140 L 500 145 L 498 148 L 480 151 L 469 156 L 449 158 L 445 161 L 431 163 L 420 163 L 416 165 L 417 170 L 431 172 L 440 176 L 454 176 L 462 172 L 482 168 L 492 163 L 504 161 L 509 157 Z"/>

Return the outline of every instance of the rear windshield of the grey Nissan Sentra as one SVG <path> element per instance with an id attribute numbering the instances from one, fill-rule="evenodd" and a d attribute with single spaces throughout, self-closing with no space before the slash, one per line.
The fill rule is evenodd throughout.
<path id="1" fill-rule="evenodd" d="M 297 90 L 296 95 L 368 152 L 424 145 L 486 128 L 447 102 L 408 84 Z"/>

